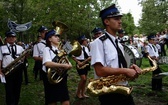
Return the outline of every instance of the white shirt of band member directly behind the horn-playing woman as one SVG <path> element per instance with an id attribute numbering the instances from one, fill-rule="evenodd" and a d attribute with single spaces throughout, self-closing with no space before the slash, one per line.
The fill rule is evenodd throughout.
<path id="1" fill-rule="evenodd" d="M 46 47 L 45 40 L 41 40 L 39 43 L 35 44 L 33 47 L 33 57 L 43 57 L 43 50 Z"/>

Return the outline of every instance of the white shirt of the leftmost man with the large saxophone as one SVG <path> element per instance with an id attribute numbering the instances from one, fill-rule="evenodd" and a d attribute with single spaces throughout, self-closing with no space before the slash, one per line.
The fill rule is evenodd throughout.
<path id="1" fill-rule="evenodd" d="M 19 57 L 22 54 L 22 52 L 24 51 L 23 47 L 20 46 L 20 45 L 16 45 L 16 49 L 14 47 L 14 50 L 16 51 L 16 55 L 15 55 L 16 57 Z M 14 59 L 12 58 L 11 47 L 10 47 L 9 43 L 7 43 L 7 45 L 1 46 L 1 48 L 0 48 L 0 60 L 2 61 L 2 67 L 3 68 L 5 68 L 12 61 L 14 61 Z"/>

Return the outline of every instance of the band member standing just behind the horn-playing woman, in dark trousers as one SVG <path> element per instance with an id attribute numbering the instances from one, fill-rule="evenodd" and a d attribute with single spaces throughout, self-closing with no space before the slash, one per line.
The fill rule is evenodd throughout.
<path id="1" fill-rule="evenodd" d="M 33 58 L 35 60 L 35 80 L 37 79 L 37 75 L 39 72 L 40 80 L 42 80 L 42 57 L 43 57 L 43 49 L 46 46 L 46 42 L 44 40 L 45 38 L 45 33 L 48 31 L 47 27 L 41 26 L 37 30 L 40 34 L 40 37 L 42 38 L 39 43 L 35 44 L 33 47 Z"/>

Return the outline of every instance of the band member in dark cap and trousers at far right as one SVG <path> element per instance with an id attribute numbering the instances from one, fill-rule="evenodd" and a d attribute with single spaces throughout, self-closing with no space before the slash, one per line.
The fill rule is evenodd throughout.
<path id="1" fill-rule="evenodd" d="M 153 59 L 158 61 L 159 60 L 159 52 L 157 47 L 155 46 L 155 35 L 150 34 L 148 37 L 148 46 L 147 46 L 147 54 Z M 150 62 L 150 65 L 153 66 L 152 62 Z M 152 90 L 162 90 L 162 78 L 155 78 L 155 76 L 162 71 L 159 68 L 159 65 L 156 70 L 152 72 Z"/>

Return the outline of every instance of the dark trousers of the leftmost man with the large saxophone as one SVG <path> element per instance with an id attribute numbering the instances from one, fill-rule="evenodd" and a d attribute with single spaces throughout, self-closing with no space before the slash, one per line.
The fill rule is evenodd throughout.
<path id="1" fill-rule="evenodd" d="M 22 84 L 22 71 L 17 70 L 6 77 L 6 105 L 18 105 Z"/>

